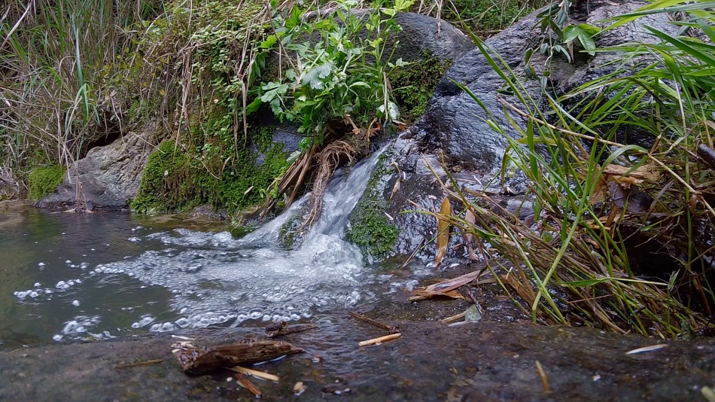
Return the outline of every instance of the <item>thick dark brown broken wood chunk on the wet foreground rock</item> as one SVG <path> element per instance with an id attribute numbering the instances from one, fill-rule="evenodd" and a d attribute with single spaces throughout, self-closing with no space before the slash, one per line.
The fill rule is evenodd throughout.
<path id="1" fill-rule="evenodd" d="M 217 368 L 259 363 L 303 351 L 282 340 L 247 340 L 212 348 L 184 345 L 177 353 L 177 358 L 185 372 L 201 374 Z"/>

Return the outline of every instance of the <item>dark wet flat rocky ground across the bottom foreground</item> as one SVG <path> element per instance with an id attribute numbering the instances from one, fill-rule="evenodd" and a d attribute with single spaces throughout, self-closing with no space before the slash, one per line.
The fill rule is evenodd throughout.
<path id="1" fill-rule="evenodd" d="M 428 302 L 429 303 L 429 302 Z M 380 311 L 373 315 L 380 315 Z M 383 335 L 347 315 L 288 335 L 305 353 L 266 363 L 279 383 L 252 380 L 265 401 L 688 401 L 701 398 L 715 371 L 715 342 L 666 342 L 661 350 L 627 355 L 660 343 L 586 328 L 518 323 L 448 327 L 434 321 L 389 321 L 402 338 L 358 347 Z M 203 330 L 184 335 L 211 345 L 262 336 L 258 329 Z M 172 356 L 170 335 L 48 345 L 0 353 L 2 401 L 252 401 L 226 371 L 190 378 Z M 115 369 L 117 365 L 162 363 Z M 541 362 L 550 393 L 536 371 Z M 302 396 L 292 388 L 307 386 Z M 350 391 L 337 396 L 331 391 Z"/>

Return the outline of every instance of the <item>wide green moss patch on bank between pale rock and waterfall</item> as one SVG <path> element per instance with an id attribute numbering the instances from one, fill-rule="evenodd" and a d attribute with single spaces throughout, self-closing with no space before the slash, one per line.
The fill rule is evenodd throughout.
<path id="1" fill-rule="evenodd" d="M 254 129 L 258 155 L 239 144 L 235 147 L 232 122 L 209 119 L 192 133 L 192 147 L 163 142 L 149 155 L 139 194 L 130 206 L 137 212 L 182 212 L 208 203 L 229 213 L 240 212 L 263 200 L 275 177 L 287 167 L 282 144 L 270 142 L 272 127 Z M 205 130 L 205 131 L 203 131 Z"/>

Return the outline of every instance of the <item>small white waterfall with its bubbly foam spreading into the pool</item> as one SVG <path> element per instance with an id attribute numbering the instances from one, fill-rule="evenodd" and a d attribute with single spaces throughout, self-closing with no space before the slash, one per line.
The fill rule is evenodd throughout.
<path id="1" fill-rule="evenodd" d="M 305 195 L 242 239 L 230 233 L 178 229 L 145 235 L 161 250 L 99 265 L 94 275 L 131 275 L 172 292 L 178 318 L 163 323 L 137 317 L 134 328 L 174 330 L 245 320 L 298 320 L 316 311 L 350 308 L 374 295 L 365 290 L 377 275 L 363 265 L 355 245 L 343 240 L 350 212 L 360 200 L 385 147 L 334 177 L 322 215 L 297 250 L 277 245 L 280 229 L 307 204 Z"/>

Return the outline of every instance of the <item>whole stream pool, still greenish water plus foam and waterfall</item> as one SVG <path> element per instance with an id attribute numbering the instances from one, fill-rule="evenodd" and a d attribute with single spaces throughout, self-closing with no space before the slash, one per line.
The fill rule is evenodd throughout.
<path id="1" fill-rule="evenodd" d="M 242 238 L 119 212 L 0 210 L 0 348 L 265 325 L 375 298 L 373 285 L 389 275 L 366 267 L 342 237 L 379 155 L 330 182 L 322 216 L 297 250 L 277 240 L 305 197 Z"/>

